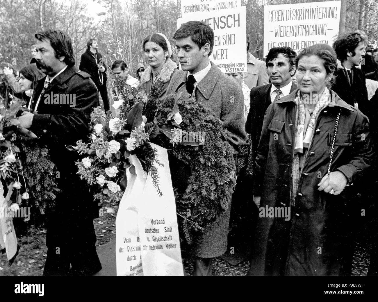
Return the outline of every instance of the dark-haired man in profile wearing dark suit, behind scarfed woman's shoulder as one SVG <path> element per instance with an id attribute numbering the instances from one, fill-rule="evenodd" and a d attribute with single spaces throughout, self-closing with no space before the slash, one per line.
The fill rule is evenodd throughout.
<path id="1" fill-rule="evenodd" d="M 365 37 L 358 32 L 343 34 L 333 43 L 333 48 L 343 68 L 335 71 L 336 82 L 332 90 L 367 115 L 369 106 L 365 74 L 356 68 L 365 54 Z"/>

